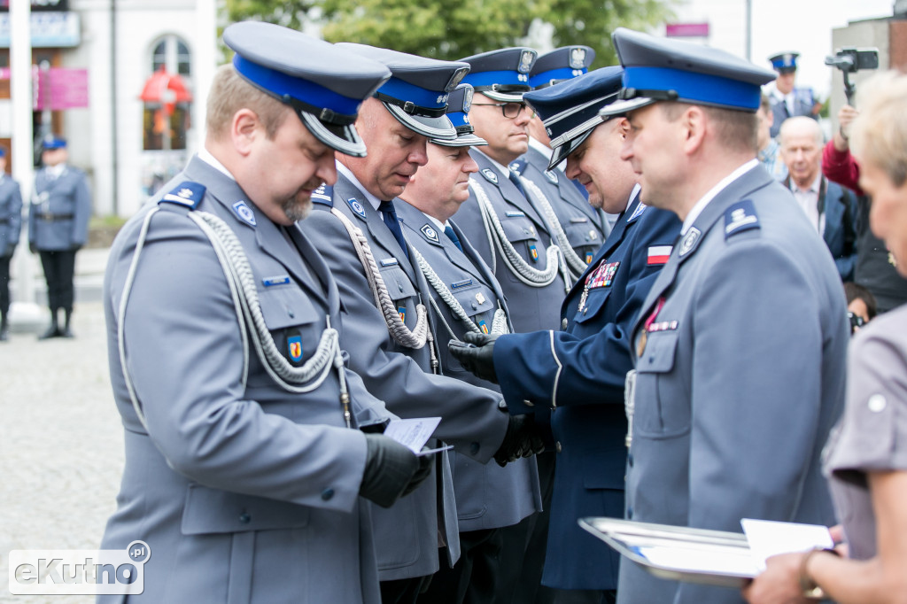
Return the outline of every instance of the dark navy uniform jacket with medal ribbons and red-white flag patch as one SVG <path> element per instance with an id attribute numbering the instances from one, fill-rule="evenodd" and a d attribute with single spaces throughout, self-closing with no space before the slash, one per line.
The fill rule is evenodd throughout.
<path id="1" fill-rule="evenodd" d="M 629 330 L 664 263 L 654 254 L 666 253 L 679 231 L 675 214 L 647 208 L 637 195 L 564 300 L 563 331 L 495 341 L 494 368 L 512 413 L 550 414 L 557 441 L 545 585 L 617 587 L 619 554 L 577 520 L 623 517 Z"/>

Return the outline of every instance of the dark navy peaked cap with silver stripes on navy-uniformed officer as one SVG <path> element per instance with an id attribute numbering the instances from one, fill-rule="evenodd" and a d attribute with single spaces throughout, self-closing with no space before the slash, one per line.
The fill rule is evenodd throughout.
<path id="1" fill-rule="evenodd" d="M 618 100 L 622 76 L 620 67 L 602 67 L 523 96 L 551 137 L 549 170 L 576 151 L 596 126 L 608 120 L 599 111 Z"/>

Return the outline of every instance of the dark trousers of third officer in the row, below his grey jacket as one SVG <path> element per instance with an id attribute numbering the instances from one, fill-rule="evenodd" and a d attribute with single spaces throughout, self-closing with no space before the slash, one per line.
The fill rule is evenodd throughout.
<path id="1" fill-rule="evenodd" d="M 460 560 L 453 569 L 441 563 L 419 604 L 483 604 L 497 600 L 503 536 L 501 529 L 460 533 Z M 444 560 L 444 556 L 441 556 Z"/>

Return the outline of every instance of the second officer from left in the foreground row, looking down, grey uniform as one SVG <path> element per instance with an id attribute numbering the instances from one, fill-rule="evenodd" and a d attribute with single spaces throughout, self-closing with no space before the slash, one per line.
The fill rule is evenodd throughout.
<path id="1" fill-rule="evenodd" d="M 316 211 L 300 223 L 337 280 L 344 323 L 356 346 L 350 366 L 369 392 L 401 417 L 440 416 L 434 435 L 479 463 L 495 453 L 522 453 L 529 431 L 508 421 L 501 395 L 440 375 L 437 328 L 426 306 L 431 294 L 410 253 L 396 215 L 395 197 L 427 161 L 431 139 L 455 138 L 444 112 L 448 94 L 468 65 L 424 59 L 361 44 L 339 44 L 385 63 L 393 74 L 365 102 L 356 122 L 368 148 L 363 159 L 341 155 L 336 185 L 319 191 Z M 375 541 L 385 604 L 412 602 L 445 563 L 459 557 L 453 483 L 447 455 L 436 480 L 375 511 Z M 439 526 L 439 521 L 441 525 Z M 439 542 L 440 536 L 440 542 Z"/>

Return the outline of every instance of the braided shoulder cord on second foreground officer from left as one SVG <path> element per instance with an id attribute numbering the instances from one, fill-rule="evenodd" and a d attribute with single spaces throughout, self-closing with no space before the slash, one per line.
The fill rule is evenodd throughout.
<path id="1" fill-rule="evenodd" d="M 428 328 L 428 311 L 425 310 L 424 305 L 419 304 L 415 307 L 417 319 L 415 328 L 410 331 L 409 327 L 405 326 L 400 319 L 400 313 L 397 312 L 394 306 L 394 300 L 387 293 L 385 280 L 381 277 L 381 271 L 378 270 L 375 257 L 372 255 L 372 249 L 368 245 L 362 229 L 356 227 L 340 210 L 332 208 L 331 213 L 337 219 L 340 219 L 340 222 L 346 228 L 346 232 L 349 233 L 349 239 L 353 242 L 353 247 L 356 248 L 356 255 L 358 255 L 359 261 L 362 262 L 362 268 L 366 271 L 368 287 L 372 290 L 372 296 L 375 297 L 375 306 L 384 315 L 385 324 L 391 337 L 394 338 L 397 344 L 407 348 L 419 349 L 425 346 L 425 342 L 431 339 L 431 334 Z M 432 352 L 434 354 L 434 349 Z"/>

